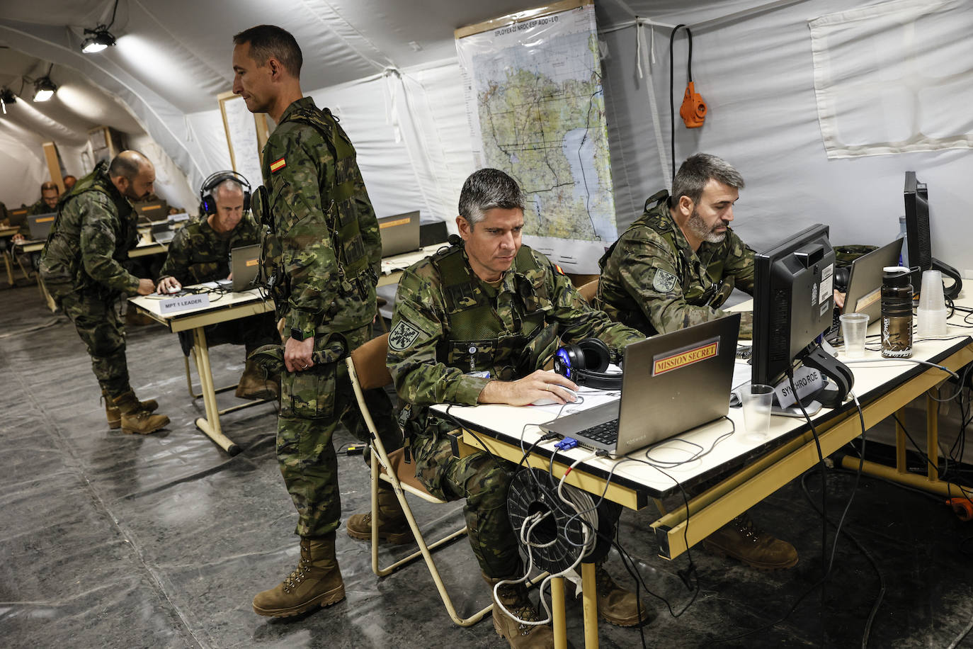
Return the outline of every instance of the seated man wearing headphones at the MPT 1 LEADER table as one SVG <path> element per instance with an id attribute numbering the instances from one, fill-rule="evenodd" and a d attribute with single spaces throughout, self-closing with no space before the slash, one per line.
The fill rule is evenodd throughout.
<path id="1" fill-rule="evenodd" d="M 226 279 L 230 275 L 230 251 L 260 243 L 259 226 L 244 209 L 244 191 L 239 181 L 228 174 L 207 196 L 213 204 L 203 200 L 202 216 L 179 230 L 169 243 L 157 282 L 159 293 L 180 289 L 183 284 Z M 242 344 L 247 356 L 264 344 L 280 343 L 272 312 L 210 325 L 205 331 L 209 344 Z M 267 377 L 257 363 L 247 360 L 236 396 L 275 399 L 279 393 L 280 377 Z"/>

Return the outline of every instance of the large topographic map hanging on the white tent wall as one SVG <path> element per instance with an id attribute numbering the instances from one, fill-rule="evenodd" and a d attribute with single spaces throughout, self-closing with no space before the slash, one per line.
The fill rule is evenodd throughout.
<path id="1" fill-rule="evenodd" d="M 465 27 L 456 50 L 476 167 L 521 184 L 529 245 L 564 270 L 597 272 L 618 228 L 595 6 L 559 3 Z"/>

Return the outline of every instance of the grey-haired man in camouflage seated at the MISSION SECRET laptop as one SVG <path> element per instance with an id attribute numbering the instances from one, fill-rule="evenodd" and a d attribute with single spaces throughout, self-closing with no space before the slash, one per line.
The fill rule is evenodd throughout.
<path id="1" fill-rule="evenodd" d="M 507 516 L 517 467 L 486 452 L 453 457 L 447 433 L 456 426 L 430 415 L 428 407 L 573 401 L 563 388 L 577 386 L 541 369 L 559 338 L 571 343 L 597 337 L 616 357 L 644 338 L 588 306 L 544 255 L 521 245 L 523 201 L 517 181 L 503 171 L 480 169 L 466 179 L 456 218 L 462 242 L 403 273 L 388 339 L 388 367 L 407 403 L 415 475 L 440 498 L 466 499 L 470 545 L 491 586 L 523 573 Z M 620 513 L 613 511 L 613 522 Z M 602 617 L 621 626 L 648 619 L 645 605 L 600 564 L 597 574 Z M 523 585 L 502 585 L 498 595 L 522 620 L 540 619 Z M 549 627 L 523 625 L 498 606 L 493 626 L 512 647 L 553 646 Z"/>

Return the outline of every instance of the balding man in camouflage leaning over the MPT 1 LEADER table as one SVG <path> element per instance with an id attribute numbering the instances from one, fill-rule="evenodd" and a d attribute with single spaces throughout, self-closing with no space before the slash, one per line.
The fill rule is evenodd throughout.
<path id="1" fill-rule="evenodd" d="M 116 302 L 122 293 L 149 295 L 156 288 L 152 279 L 122 266 L 138 239 L 131 201 L 151 192 L 155 179 L 152 162 L 137 151 L 99 163 L 61 201 L 40 266 L 51 297 L 88 346 L 108 425 L 142 435 L 159 430 L 169 417 L 153 415 L 155 400 L 139 401 L 128 383 Z"/>

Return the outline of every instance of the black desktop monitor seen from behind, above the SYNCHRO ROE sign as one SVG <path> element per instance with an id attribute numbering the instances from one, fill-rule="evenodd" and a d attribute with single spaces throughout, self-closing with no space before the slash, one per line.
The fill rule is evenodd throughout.
<path id="1" fill-rule="evenodd" d="M 755 255 L 753 382 L 778 383 L 831 328 L 834 271 L 827 226 L 811 226 Z"/>

